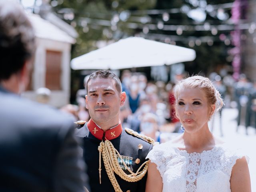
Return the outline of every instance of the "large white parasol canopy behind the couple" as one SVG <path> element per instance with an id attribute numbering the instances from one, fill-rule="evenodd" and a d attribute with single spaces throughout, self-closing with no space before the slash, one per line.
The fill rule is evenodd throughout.
<path id="1" fill-rule="evenodd" d="M 195 58 L 196 52 L 192 49 L 140 37 L 129 37 L 72 59 L 71 68 L 116 70 L 170 65 L 192 61 Z"/>

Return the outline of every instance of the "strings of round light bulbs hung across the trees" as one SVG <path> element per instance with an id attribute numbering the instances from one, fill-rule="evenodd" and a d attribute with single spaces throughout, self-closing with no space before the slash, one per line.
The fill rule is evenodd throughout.
<path id="1" fill-rule="evenodd" d="M 51 2 L 52 6 L 57 6 L 57 3 L 54 1 Z M 240 2 L 239 6 L 244 6 L 244 2 Z M 200 7 L 201 11 L 206 12 L 207 14 L 212 14 L 215 18 L 219 18 L 219 20 L 205 20 L 198 22 L 196 20 L 191 20 L 190 24 L 178 24 L 178 20 L 173 20 L 170 17 L 170 14 L 175 13 L 184 13 L 188 14 L 189 11 L 195 10 L 194 7 Z M 226 3 L 226 4 L 201 4 L 201 5 L 192 5 L 188 6 L 185 4 L 181 8 L 172 8 L 172 9 L 161 9 L 161 10 L 124 10 L 120 13 L 118 12 L 93 12 L 89 11 L 83 14 L 75 12 L 70 8 L 62 8 L 54 10 L 57 12 L 58 16 L 60 16 L 64 20 L 68 20 L 71 22 L 72 26 L 80 26 L 84 33 L 87 33 L 90 28 L 102 30 L 103 34 L 108 36 L 109 38 L 112 35 L 109 33 L 114 33 L 120 28 L 130 28 L 141 30 L 139 33 L 140 36 L 144 36 L 146 38 L 151 38 L 155 40 L 160 40 L 170 44 L 176 44 L 176 42 L 188 43 L 190 47 L 200 46 L 202 43 L 207 43 L 209 46 L 213 44 L 213 42 L 221 41 L 226 45 L 230 44 L 231 36 L 228 36 L 230 31 L 234 30 L 248 30 L 250 34 L 254 33 L 256 30 L 256 24 L 254 22 L 249 23 L 247 20 L 238 18 L 236 23 L 229 19 L 229 16 L 225 18 L 225 10 L 230 10 L 232 7 L 236 6 L 234 3 Z M 30 7 L 34 8 L 34 7 Z M 150 15 L 161 15 L 162 19 L 156 19 Z M 222 18 L 220 19 L 222 15 Z M 189 14 L 188 14 L 189 16 Z M 76 18 L 76 19 L 75 19 Z M 167 23 L 168 22 L 168 23 Z M 171 24 L 170 24 L 171 23 Z M 106 29 L 108 28 L 108 29 Z M 166 31 L 176 32 L 177 35 L 168 35 L 168 34 L 157 34 L 156 32 L 162 31 L 163 33 Z M 202 31 L 207 32 L 209 34 L 207 36 L 186 36 L 185 32 L 196 32 Z M 226 33 L 225 39 L 220 39 L 220 35 Z"/>

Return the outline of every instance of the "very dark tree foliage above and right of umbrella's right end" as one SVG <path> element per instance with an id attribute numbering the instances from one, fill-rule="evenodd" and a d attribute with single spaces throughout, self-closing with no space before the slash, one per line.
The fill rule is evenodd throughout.
<path id="1" fill-rule="evenodd" d="M 193 3 L 194 2 L 194 3 Z M 202 3 L 203 1 L 200 0 L 158 0 L 156 3 L 156 9 L 169 9 L 169 8 L 181 8 L 182 6 L 186 5 L 190 9 L 196 9 L 200 6 L 198 4 Z M 234 0 L 207 0 L 207 5 L 220 5 L 222 4 L 232 3 Z M 231 9 L 226 9 L 225 12 L 228 14 L 229 18 L 231 16 Z M 218 10 L 214 10 L 217 13 Z M 220 24 L 227 24 L 226 20 L 220 20 L 216 17 L 216 14 L 207 13 L 206 19 L 203 22 L 196 22 L 193 19 L 189 18 L 186 13 L 177 13 L 177 14 L 170 14 L 170 20 L 164 22 L 164 24 L 180 24 L 180 25 L 203 25 L 206 22 L 210 25 L 220 25 Z M 155 19 L 160 20 L 161 15 L 154 16 Z M 176 35 L 175 31 L 164 31 L 162 34 L 167 35 Z M 224 44 L 223 41 L 219 39 L 220 34 L 225 34 L 226 36 L 230 36 L 230 30 L 226 31 L 218 31 L 216 35 L 209 31 L 183 31 L 182 36 L 184 38 L 189 39 L 191 36 L 196 38 L 202 37 L 210 37 L 213 39 L 213 45 L 209 46 L 207 43 L 201 43 L 200 46 L 188 46 L 188 41 L 176 41 L 176 45 L 185 46 L 188 48 L 193 48 L 196 50 L 196 59 L 193 62 L 186 62 L 185 70 L 187 70 L 190 74 L 198 74 L 202 73 L 208 75 L 210 72 L 217 71 L 218 68 L 221 68 L 225 65 L 231 65 L 230 61 L 227 61 L 226 58 L 228 57 L 228 46 Z M 194 39 L 195 41 L 195 39 Z M 231 45 L 229 46 L 231 47 Z"/>

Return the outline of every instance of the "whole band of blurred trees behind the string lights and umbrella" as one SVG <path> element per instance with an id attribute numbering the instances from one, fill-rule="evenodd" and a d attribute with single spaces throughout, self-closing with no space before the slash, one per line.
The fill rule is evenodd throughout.
<path id="1" fill-rule="evenodd" d="M 119 40 L 127 36 L 133 36 L 139 34 L 145 38 L 154 39 L 152 34 L 162 35 L 165 37 L 177 36 L 177 32 L 166 31 L 161 29 L 150 29 L 148 33 L 143 33 L 142 29 L 146 24 L 157 25 L 159 21 L 165 25 L 187 25 L 196 26 L 204 25 L 205 23 L 210 26 L 216 26 L 219 24 L 228 24 L 227 20 L 220 20 L 216 14 L 218 9 L 212 11 L 212 13 L 206 12 L 206 19 L 198 22 L 188 17 L 186 12 L 178 11 L 176 13 L 168 13 L 169 20 L 163 21 L 162 14 L 148 14 L 147 12 L 140 12 L 140 14 L 134 14 L 136 10 L 168 10 L 177 8 L 181 10 L 182 7 L 197 9 L 202 8 L 202 5 L 215 5 L 232 3 L 234 0 L 58 0 L 58 6 L 54 7 L 54 10 L 59 13 L 60 17 L 63 17 L 63 10 L 69 8 L 74 13 L 74 20 L 66 20 L 70 22 L 72 26 L 75 26 L 79 37 L 77 43 L 72 48 L 72 58 L 88 53 L 97 49 L 96 42 L 99 40 Z M 131 11 L 131 12 L 127 12 Z M 230 8 L 224 10 L 230 18 Z M 128 14 L 124 20 L 120 19 L 121 13 Z M 116 19 L 118 21 L 115 24 L 115 15 L 119 16 Z M 146 22 L 143 22 L 142 18 L 150 18 Z M 114 21 L 114 26 L 113 22 Z M 136 26 L 129 26 L 128 23 L 136 24 Z M 217 34 L 212 34 L 211 30 L 198 31 L 198 30 L 183 30 L 179 36 L 182 40 L 175 40 L 176 45 L 193 48 L 196 50 L 197 57 L 193 62 L 186 62 L 186 70 L 190 73 L 203 72 L 208 74 L 213 70 L 217 70 L 219 66 L 230 65 L 230 61 L 227 61 L 227 46 L 223 41 L 219 39 L 220 34 L 225 34 L 229 38 L 230 31 L 218 31 Z M 191 39 L 191 37 L 193 37 Z M 207 42 L 202 42 L 199 45 L 194 45 L 196 38 L 210 37 L 212 42 L 210 46 Z M 164 38 L 156 38 L 155 40 L 162 40 Z M 188 45 L 188 42 L 192 40 L 192 46 Z M 213 44 L 212 44 L 213 43 Z M 212 44 L 212 45 L 211 45 Z"/>

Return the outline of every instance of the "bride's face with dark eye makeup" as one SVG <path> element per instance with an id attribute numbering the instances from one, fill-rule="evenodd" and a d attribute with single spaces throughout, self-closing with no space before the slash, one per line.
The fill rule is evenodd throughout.
<path id="1" fill-rule="evenodd" d="M 198 88 L 183 89 L 177 97 L 177 115 L 186 132 L 197 132 L 208 128 L 209 117 L 215 105 L 208 104 L 204 90 Z"/>

